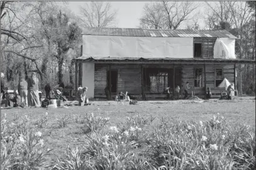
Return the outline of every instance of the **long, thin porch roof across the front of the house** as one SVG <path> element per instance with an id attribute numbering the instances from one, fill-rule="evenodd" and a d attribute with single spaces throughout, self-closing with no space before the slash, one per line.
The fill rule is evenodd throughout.
<path id="1" fill-rule="evenodd" d="M 132 64 L 255 64 L 255 60 L 247 59 L 173 59 L 173 58 L 143 58 L 143 57 L 78 57 L 75 62 L 95 63 L 132 63 Z"/>

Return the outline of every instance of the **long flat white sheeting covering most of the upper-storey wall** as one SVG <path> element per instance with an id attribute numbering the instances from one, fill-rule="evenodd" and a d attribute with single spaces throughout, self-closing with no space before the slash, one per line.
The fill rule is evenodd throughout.
<path id="1" fill-rule="evenodd" d="M 83 56 L 193 58 L 193 37 L 83 35 Z"/>

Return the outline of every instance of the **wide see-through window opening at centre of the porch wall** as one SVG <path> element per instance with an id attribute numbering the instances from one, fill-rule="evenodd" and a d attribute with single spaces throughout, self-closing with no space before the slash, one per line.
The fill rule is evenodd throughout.
<path id="1" fill-rule="evenodd" d="M 168 87 L 168 73 L 159 72 L 159 73 L 150 73 L 150 91 L 152 93 L 163 93 Z"/>

